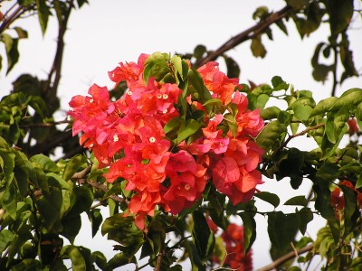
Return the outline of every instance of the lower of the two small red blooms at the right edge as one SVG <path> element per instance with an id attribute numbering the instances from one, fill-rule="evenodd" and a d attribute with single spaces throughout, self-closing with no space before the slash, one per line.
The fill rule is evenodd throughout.
<path id="1" fill-rule="evenodd" d="M 362 192 L 357 191 L 352 182 L 342 181 L 339 185 L 343 185 L 348 187 L 348 189 L 356 192 L 357 195 L 357 206 L 360 210 L 362 210 Z M 330 193 L 330 205 L 334 209 L 335 217 L 339 220 L 339 211 L 345 208 L 345 197 L 343 192 L 338 187 L 335 187 L 333 192 Z"/>

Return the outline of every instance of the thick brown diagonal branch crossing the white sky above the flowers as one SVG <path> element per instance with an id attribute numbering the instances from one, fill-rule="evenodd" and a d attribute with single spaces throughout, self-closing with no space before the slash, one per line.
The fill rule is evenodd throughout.
<path id="1" fill-rule="evenodd" d="M 214 61 L 216 58 L 221 56 L 225 51 L 229 51 L 233 49 L 237 45 L 247 40 L 251 40 L 252 38 L 256 37 L 260 33 L 262 33 L 266 28 L 268 28 L 272 23 L 276 23 L 282 18 L 287 17 L 293 11 L 292 7 L 286 5 L 280 11 L 276 13 L 269 14 L 264 20 L 255 24 L 251 28 L 243 31 L 242 33 L 237 34 L 229 41 L 225 42 L 222 46 L 219 47 L 216 51 L 210 51 L 205 58 L 196 61 L 195 66 L 201 67 L 208 61 Z"/>

